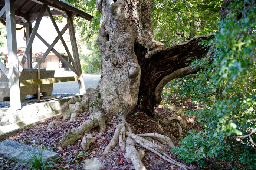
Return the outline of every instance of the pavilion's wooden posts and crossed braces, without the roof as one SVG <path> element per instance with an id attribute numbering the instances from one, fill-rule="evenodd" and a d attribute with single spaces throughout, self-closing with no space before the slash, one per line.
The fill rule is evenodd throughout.
<path id="1" fill-rule="evenodd" d="M 76 44 L 76 37 L 75 37 L 75 30 L 73 25 L 73 20 L 71 17 L 67 18 L 67 24 L 66 26 L 60 31 L 54 18 L 53 14 L 50 11 L 50 8 L 47 6 L 47 4 L 41 3 L 41 1 L 38 1 L 40 4 L 42 4 L 42 7 L 40 9 L 40 12 L 37 14 L 37 20 L 35 23 L 34 28 L 31 28 L 31 23 L 26 23 L 26 29 L 27 34 L 29 36 L 29 39 L 27 40 L 27 46 L 24 50 L 22 59 L 20 61 L 20 64 L 18 65 L 18 58 L 17 58 L 17 44 L 16 44 L 16 23 L 15 23 L 15 10 L 14 10 L 14 0 L 5 0 L 5 6 L 0 11 L 0 19 L 3 17 L 4 14 L 6 14 L 6 29 L 7 29 L 7 46 L 8 46 L 8 59 L 9 59 L 9 70 L 5 67 L 5 65 L 0 61 L 0 69 L 4 72 L 4 74 L 9 78 L 9 85 L 7 85 L 7 82 L 0 82 L 0 88 L 6 88 L 7 86 L 10 87 L 10 105 L 11 110 L 19 110 L 21 109 L 21 103 L 20 103 L 20 86 L 27 86 L 27 85 L 39 85 L 39 84 L 48 84 L 48 83 L 55 83 L 55 82 L 63 82 L 63 81 L 74 81 L 77 80 L 79 84 L 79 91 L 81 94 L 85 93 L 85 85 L 83 82 L 83 76 L 82 76 L 82 69 L 81 64 L 79 60 L 79 54 L 78 54 L 78 48 Z M 45 39 L 43 39 L 38 33 L 37 30 L 39 28 L 40 22 L 42 20 L 42 17 L 45 16 L 45 12 L 48 13 L 48 16 L 50 17 L 58 36 L 55 38 L 55 40 L 52 42 L 52 44 L 49 44 L 46 42 Z M 73 52 L 73 58 L 72 55 L 62 37 L 62 35 L 65 33 L 65 31 L 69 29 L 69 35 L 70 35 L 70 42 L 72 46 L 72 52 Z M 51 79 L 37 79 L 37 80 L 27 80 L 23 82 L 19 82 L 19 77 L 23 71 L 23 67 L 25 62 L 27 61 L 27 65 L 29 68 L 32 68 L 31 61 L 32 61 L 32 43 L 35 39 L 35 36 L 37 36 L 47 47 L 48 49 L 43 54 L 42 58 L 46 58 L 46 56 L 49 54 L 50 51 L 52 51 L 63 63 L 65 63 L 75 74 L 76 77 L 67 77 L 67 78 L 51 78 Z M 72 65 L 66 61 L 60 55 L 53 47 L 58 42 L 58 40 L 61 40 L 66 53 L 68 54 L 68 57 L 72 63 Z M 37 68 L 38 65 L 36 65 L 34 68 Z"/>

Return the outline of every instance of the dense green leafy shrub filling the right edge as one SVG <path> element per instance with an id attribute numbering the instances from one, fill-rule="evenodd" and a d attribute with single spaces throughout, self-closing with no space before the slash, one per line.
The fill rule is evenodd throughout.
<path id="1" fill-rule="evenodd" d="M 230 9 L 232 14 L 219 22 L 220 31 L 208 42 L 213 56 L 193 61 L 202 69 L 178 83 L 183 95 L 204 102 L 203 109 L 190 114 L 205 130 L 191 130 L 173 152 L 199 166 L 204 158 L 214 158 L 232 162 L 233 169 L 256 169 L 256 6 L 237 0 Z"/>

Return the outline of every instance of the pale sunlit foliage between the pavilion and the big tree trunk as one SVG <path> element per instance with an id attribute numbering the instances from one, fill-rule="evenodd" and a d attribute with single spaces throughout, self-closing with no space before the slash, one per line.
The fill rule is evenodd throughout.
<path id="1" fill-rule="evenodd" d="M 82 71 L 100 74 L 101 54 L 98 47 L 98 30 L 101 13 L 95 6 L 95 0 L 67 0 L 70 4 L 93 16 L 92 21 L 81 17 L 74 18 L 74 26 L 79 31 L 78 48 Z M 62 17 L 58 17 L 61 22 Z"/>

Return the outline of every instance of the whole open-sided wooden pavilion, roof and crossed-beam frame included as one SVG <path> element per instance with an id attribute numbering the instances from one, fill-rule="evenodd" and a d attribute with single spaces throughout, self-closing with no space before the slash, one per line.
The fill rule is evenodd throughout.
<path id="1" fill-rule="evenodd" d="M 53 16 L 63 16 L 67 18 L 67 24 L 60 31 Z M 72 81 L 78 80 L 79 90 L 81 94 L 85 93 L 85 86 L 82 77 L 81 65 L 78 55 L 78 48 L 76 44 L 75 30 L 73 26 L 73 17 L 82 17 L 86 20 L 91 21 L 93 16 L 79 10 L 77 7 L 69 4 L 65 0 L 0 0 L 0 19 L 6 22 L 7 30 L 7 47 L 8 47 L 8 58 L 9 58 L 9 69 L 0 61 L 0 69 L 9 79 L 9 82 L 0 82 L 0 88 L 10 88 L 10 109 L 19 110 L 21 109 L 20 102 L 20 81 L 19 77 L 23 71 L 25 62 L 27 61 L 27 68 L 32 68 L 32 43 L 37 36 L 48 49 L 42 56 L 45 58 L 50 51 L 52 51 L 57 57 L 59 57 L 62 63 L 65 63 L 73 72 L 76 73 L 76 77 L 73 78 L 52 78 L 52 79 L 35 79 L 23 81 L 22 85 L 40 85 L 49 84 L 54 82 Z M 49 44 L 41 37 L 37 30 L 39 28 L 42 17 L 49 17 L 58 33 L 58 36 Z M 36 22 L 32 28 L 32 22 Z M 18 64 L 17 58 L 17 43 L 16 43 L 16 24 L 26 27 L 27 33 L 27 46 L 22 55 L 20 64 Z M 21 26 L 21 27 L 22 27 Z M 73 57 L 62 37 L 66 30 L 69 30 L 70 41 L 72 46 Z M 50 30 L 46 30 L 50 31 Z M 65 47 L 66 53 L 72 63 L 72 65 L 62 57 L 53 47 L 58 42 L 62 41 Z M 36 65 L 37 68 L 38 66 Z"/>

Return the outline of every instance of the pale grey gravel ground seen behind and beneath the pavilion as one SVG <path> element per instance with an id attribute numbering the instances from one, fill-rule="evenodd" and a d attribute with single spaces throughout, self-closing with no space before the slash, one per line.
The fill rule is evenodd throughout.
<path id="1" fill-rule="evenodd" d="M 55 71 L 55 77 L 63 77 L 63 76 L 76 76 L 76 74 L 72 71 L 64 71 L 64 72 L 58 72 Z M 85 89 L 92 87 L 96 89 L 99 79 L 101 78 L 101 75 L 94 75 L 94 74 L 83 74 L 83 80 L 85 83 Z M 63 98 L 68 97 L 72 95 L 79 95 L 79 86 L 77 81 L 69 81 L 69 82 L 61 82 L 61 83 L 55 83 L 53 84 L 53 91 L 52 96 L 45 96 L 42 95 L 42 101 L 49 100 L 50 98 Z M 33 103 L 39 102 L 37 100 L 37 97 L 29 95 L 26 97 L 26 101 L 22 101 L 22 107 L 26 105 L 30 105 Z M 10 102 L 0 102 L 0 109 L 9 108 Z"/>

